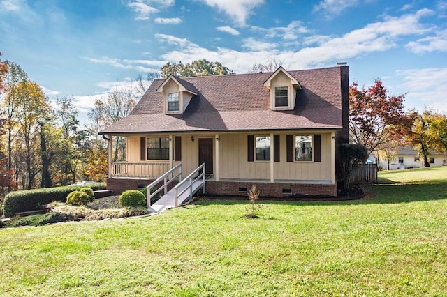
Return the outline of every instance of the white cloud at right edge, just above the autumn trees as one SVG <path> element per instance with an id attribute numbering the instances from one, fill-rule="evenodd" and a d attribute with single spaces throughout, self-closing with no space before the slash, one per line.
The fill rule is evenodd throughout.
<path id="1" fill-rule="evenodd" d="M 423 68 L 397 71 L 403 77 L 400 86 L 407 90 L 406 107 L 422 110 L 423 105 L 447 112 L 447 68 Z"/>

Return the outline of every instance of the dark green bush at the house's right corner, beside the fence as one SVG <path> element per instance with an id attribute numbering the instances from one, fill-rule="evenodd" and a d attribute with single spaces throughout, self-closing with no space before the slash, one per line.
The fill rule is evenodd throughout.
<path id="1" fill-rule="evenodd" d="M 359 163 L 364 163 L 368 158 L 368 148 L 361 144 L 340 144 L 339 153 L 342 162 L 343 189 L 351 189 L 353 171 Z"/>

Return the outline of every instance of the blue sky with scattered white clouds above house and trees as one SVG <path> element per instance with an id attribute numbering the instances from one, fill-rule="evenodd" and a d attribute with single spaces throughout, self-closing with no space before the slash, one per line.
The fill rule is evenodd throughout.
<path id="1" fill-rule="evenodd" d="M 107 91 L 198 59 L 235 73 L 346 62 L 351 84 L 447 112 L 447 0 L 0 0 L 0 52 L 81 121 Z"/>

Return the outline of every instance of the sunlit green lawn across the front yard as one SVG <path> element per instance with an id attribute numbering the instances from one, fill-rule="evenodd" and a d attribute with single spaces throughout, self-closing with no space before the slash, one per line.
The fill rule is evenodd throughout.
<path id="1" fill-rule="evenodd" d="M 447 167 L 379 178 L 358 201 L 261 201 L 257 219 L 203 199 L 0 229 L 0 296 L 447 296 Z"/>

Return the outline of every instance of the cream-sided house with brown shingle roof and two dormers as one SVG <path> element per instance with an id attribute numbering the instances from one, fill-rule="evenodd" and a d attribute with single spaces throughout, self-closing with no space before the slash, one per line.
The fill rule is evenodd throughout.
<path id="1" fill-rule="evenodd" d="M 148 185 L 205 162 L 214 195 L 337 195 L 336 144 L 348 140 L 349 66 L 152 82 L 131 114 L 100 134 L 126 137 L 108 189 Z"/>

